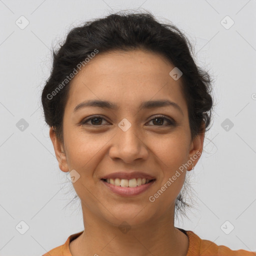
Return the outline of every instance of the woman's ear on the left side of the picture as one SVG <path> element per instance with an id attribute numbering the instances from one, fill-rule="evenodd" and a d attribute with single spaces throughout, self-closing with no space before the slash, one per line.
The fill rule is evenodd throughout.
<path id="1" fill-rule="evenodd" d="M 62 143 L 59 141 L 59 139 L 56 137 L 56 133 L 52 126 L 50 127 L 49 135 L 50 135 L 50 139 L 53 144 L 53 147 L 54 147 L 56 158 L 58 160 L 59 168 L 64 172 L 68 172 L 69 169 L 68 169 L 68 165 L 67 165 L 66 155 L 64 152 L 64 147 L 63 147 Z"/>

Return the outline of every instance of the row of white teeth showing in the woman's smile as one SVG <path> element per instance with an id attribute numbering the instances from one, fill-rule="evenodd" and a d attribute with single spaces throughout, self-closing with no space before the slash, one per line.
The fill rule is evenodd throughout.
<path id="1" fill-rule="evenodd" d="M 104 182 L 112 184 L 114 186 L 122 186 L 122 187 L 136 187 L 147 184 L 149 182 L 154 181 L 155 179 L 148 178 L 132 178 L 132 179 L 124 179 L 124 178 L 102 178 Z"/>

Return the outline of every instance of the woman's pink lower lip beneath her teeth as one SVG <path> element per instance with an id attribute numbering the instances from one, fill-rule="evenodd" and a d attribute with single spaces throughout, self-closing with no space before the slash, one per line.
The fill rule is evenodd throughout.
<path id="1" fill-rule="evenodd" d="M 154 182 L 150 181 L 146 184 L 135 186 L 135 187 L 126 187 L 126 186 L 115 186 L 113 184 L 107 183 L 106 181 L 101 181 L 114 193 L 124 196 L 132 196 L 132 195 L 138 195 L 142 192 L 144 192 L 146 189 L 148 189 Z"/>

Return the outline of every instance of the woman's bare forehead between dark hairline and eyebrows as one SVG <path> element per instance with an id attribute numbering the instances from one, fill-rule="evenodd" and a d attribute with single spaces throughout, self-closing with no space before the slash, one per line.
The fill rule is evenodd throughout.
<path id="1" fill-rule="evenodd" d="M 169 72 L 174 66 L 161 54 L 144 51 L 97 53 L 73 77 L 66 107 L 86 99 L 104 99 L 118 106 L 138 106 L 141 101 L 168 98 L 185 108 L 181 79 Z"/>

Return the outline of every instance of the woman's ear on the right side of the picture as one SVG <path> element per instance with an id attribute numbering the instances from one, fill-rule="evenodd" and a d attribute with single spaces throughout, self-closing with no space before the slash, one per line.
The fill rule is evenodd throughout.
<path id="1" fill-rule="evenodd" d="M 205 123 L 204 122 L 202 122 L 202 127 L 203 127 L 203 132 L 197 134 L 193 138 L 193 140 L 191 141 L 191 144 L 190 144 L 189 155 L 188 155 L 188 159 L 187 159 L 187 161 L 190 159 L 193 163 L 193 164 L 191 164 L 190 170 L 192 169 L 192 166 L 195 166 L 195 164 L 199 160 L 201 153 L 202 153 L 203 140 L 204 140 L 204 135 L 205 135 Z"/>

